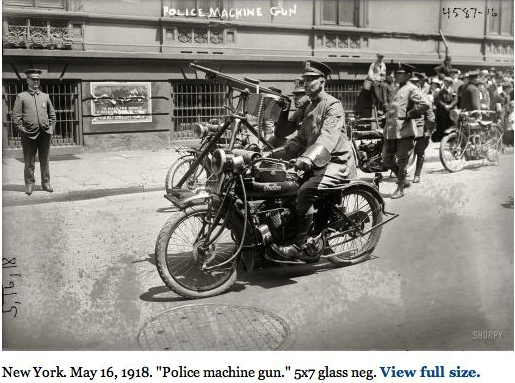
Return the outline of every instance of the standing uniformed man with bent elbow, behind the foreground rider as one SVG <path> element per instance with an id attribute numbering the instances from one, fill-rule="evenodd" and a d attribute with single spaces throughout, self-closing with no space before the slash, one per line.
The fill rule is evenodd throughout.
<path id="1" fill-rule="evenodd" d="M 397 190 L 391 197 L 394 199 L 403 197 L 404 188 L 410 185 L 406 180 L 406 165 L 417 135 L 415 119 L 430 108 L 420 89 L 408 81 L 410 73 L 400 67 L 396 74 L 399 90 L 388 105 L 382 153 L 384 164 L 397 176 Z"/>

